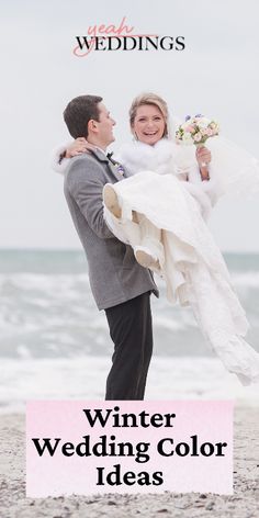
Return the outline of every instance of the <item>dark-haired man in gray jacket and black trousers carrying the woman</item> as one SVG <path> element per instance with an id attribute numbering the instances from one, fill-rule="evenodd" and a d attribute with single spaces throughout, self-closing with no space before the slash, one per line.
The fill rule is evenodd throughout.
<path id="1" fill-rule="evenodd" d="M 132 248 L 114 237 L 103 218 L 103 185 L 130 176 L 105 155 L 114 142 L 115 121 L 97 95 L 72 99 L 64 119 L 74 138 L 83 136 L 95 146 L 70 160 L 64 190 L 86 251 L 91 290 L 98 308 L 105 311 L 114 342 L 105 399 L 144 399 L 153 352 L 149 299 L 158 290 L 149 270 L 136 262 Z"/>

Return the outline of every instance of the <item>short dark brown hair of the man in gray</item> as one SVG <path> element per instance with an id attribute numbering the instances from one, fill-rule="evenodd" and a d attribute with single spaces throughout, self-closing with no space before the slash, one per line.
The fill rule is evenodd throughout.
<path id="1" fill-rule="evenodd" d="M 99 95 L 79 95 L 72 99 L 64 111 L 64 120 L 74 138 L 88 137 L 88 123 L 93 119 L 99 122 Z"/>

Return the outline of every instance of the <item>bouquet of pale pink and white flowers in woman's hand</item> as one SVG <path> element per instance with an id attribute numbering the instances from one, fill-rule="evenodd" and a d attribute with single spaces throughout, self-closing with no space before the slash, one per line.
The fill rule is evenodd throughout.
<path id="1" fill-rule="evenodd" d="M 187 115 L 185 122 L 176 132 L 177 144 L 203 146 L 209 137 L 218 135 L 218 124 L 200 113 L 194 117 Z"/>

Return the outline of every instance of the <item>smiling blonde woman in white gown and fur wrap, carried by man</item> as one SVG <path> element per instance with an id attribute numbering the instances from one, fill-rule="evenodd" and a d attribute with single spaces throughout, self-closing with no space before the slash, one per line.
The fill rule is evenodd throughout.
<path id="1" fill-rule="evenodd" d="M 104 187 L 106 222 L 119 239 L 134 247 L 138 262 L 165 279 L 171 302 L 191 305 L 228 371 L 244 385 L 259 382 L 259 354 L 244 339 L 245 312 L 203 217 L 229 185 L 241 184 L 248 170 L 252 177 L 256 165 L 246 151 L 236 157 L 237 148 L 224 140 L 213 143 L 210 166 L 207 149 L 196 156 L 193 149 L 179 149 L 168 137 L 167 104 L 158 95 L 136 98 L 130 122 L 135 139 L 113 162 L 133 176 Z M 83 139 L 71 146 L 74 154 L 86 147 Z"/>

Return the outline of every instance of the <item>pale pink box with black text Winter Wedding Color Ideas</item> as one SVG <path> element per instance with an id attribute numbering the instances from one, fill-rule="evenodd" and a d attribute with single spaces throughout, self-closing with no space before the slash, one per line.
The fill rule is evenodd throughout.
<path id="1" fill-rule="evenodd" d="M 232 402 L 33 401 L 26 494 L 233 493 Z"/>

